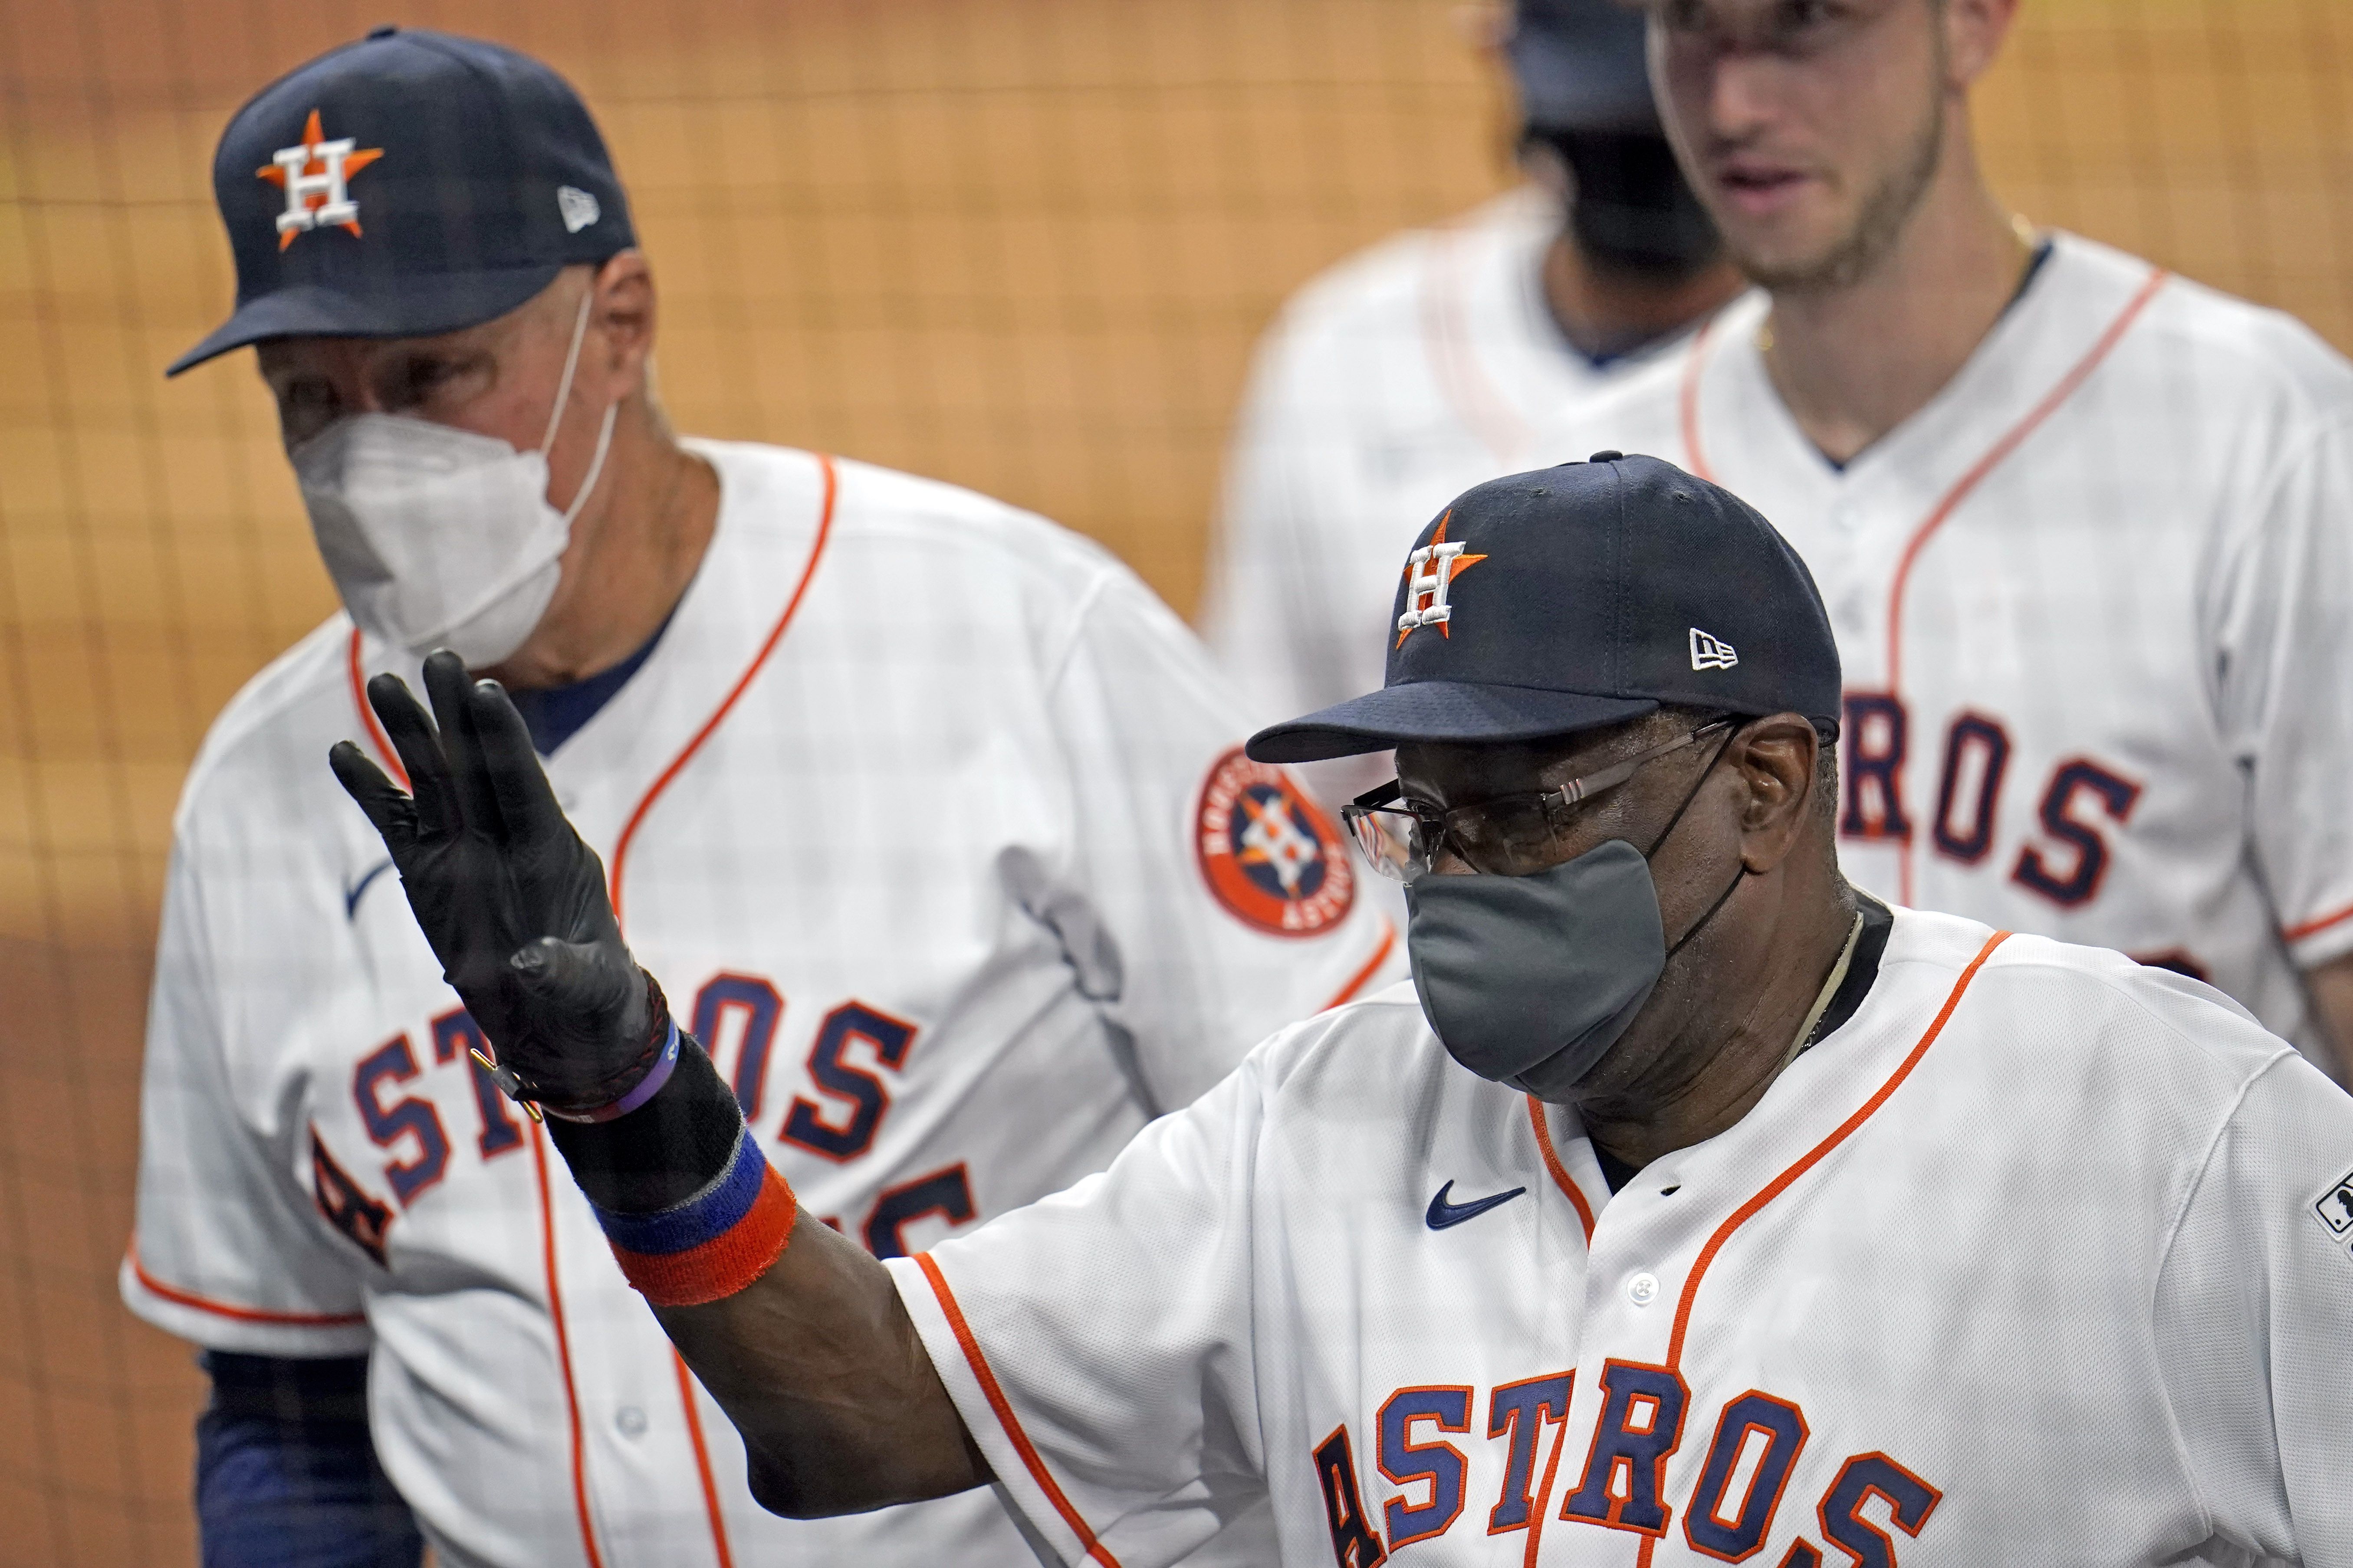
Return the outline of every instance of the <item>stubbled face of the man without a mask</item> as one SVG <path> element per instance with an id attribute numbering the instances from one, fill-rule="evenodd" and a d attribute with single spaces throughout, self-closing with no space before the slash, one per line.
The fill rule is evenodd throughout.
<path id="1" fill-rule="evenodd" d="M 1657 0 L 1652 80 L 1753 280 L 1842 287 L 1892 249 L 1944 150 L 1946 0 Z"/>

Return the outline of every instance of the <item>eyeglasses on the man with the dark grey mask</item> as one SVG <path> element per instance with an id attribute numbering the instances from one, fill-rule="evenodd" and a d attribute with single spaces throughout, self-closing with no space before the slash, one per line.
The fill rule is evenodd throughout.
<path id="1" fill-rule="evenodd" d="M 1391 882 L 1412 882 L 1431 870 L 1445 851 L 1454 851 L 1471 870 L 1487 877 L 1525 877 L 1558 858 L 1555 851 L 1577 820 L 1579 802 L 1619 788 L 1645 762 L 1680 752 L 1685 745 L 1697 745 L 1732 726 L 1729 717 L 1711 719 L 1666 745 L 1572 778 L 1555 790 L 1499 795 L 1452 811 L 1405 799 L 1405 785 L 1391 778 L 1379 790 L 1367 790 L 1341 806 L 1339 818 L 1355 835 L 1355 849 L 1365 863 Z"/>

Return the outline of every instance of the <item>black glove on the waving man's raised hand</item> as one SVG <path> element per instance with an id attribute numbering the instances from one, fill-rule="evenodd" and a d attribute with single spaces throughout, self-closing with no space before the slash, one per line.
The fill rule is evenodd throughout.
<path id="1" fill-rule="evenodd" d="M 351 741 L 327 762 L 496 1048 L 499 1086 L 553 1112 L 612 1105 L 652 1070 L 668 1011 L 621 943 L 605 865 L 565 820 L 499 682 L 468 679 L 442 649 L 426 658 L 426 693 L 433 717 L 398 675 L 367 682 L 414 795 Z"/>

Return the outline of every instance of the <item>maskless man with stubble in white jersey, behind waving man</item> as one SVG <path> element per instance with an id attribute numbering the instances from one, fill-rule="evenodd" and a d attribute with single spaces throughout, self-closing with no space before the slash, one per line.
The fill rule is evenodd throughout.
<path id="1" fill-rule="evenodd" d="M 1857 884 L 2212 980 L 2344 1077 L 2353 367 L 1995 200 L 1969 92 L 2014 16 L 1661 0 L 1668 134 L 1762 289 L 1553 456 L 1666 456 L 1798 545 Z"/>

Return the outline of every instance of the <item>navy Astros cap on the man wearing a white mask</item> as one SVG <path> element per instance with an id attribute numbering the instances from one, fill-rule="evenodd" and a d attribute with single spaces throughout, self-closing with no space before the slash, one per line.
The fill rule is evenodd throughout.
<path id="1" fill-rule="evenodd" d="M 289 336 L 405 339 L 506 315 L 638 242 L 595 120 L 499 45 L 376 28 L 264 87 L 212 193 L 238 310 L 172 362 Z"/>

